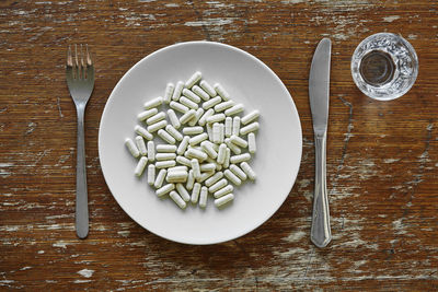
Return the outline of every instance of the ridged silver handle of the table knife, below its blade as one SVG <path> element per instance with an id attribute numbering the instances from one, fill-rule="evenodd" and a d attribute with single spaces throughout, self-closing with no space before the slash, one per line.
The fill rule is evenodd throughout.
<path id="1" fill-rule="evenodd" d="M 315 187 L 313 196 L 312 229 L 310 238 L 318 247 L 325 247 L 332 241 L 330 230 L 328 197 L 325 172 L 326 131 L 315 133 Z"/>

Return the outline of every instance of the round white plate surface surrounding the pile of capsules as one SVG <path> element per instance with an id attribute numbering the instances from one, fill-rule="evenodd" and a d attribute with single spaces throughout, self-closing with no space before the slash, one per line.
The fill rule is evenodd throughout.
<path id="1" fill-rule="evenodd" d="M 124 140 L 134 138 L 137 114 L 146 101 L 164 94 L 168 82 L 186 81 L 195 71 L 219 82 L 245 113 L 261 110 L 257 153 L 250 165 L 257 174 L 234 189 L 234 201 L 222 210 L 209 196 L 205 210 L 181 210 L 159 199 L 134 176 L 137 161 Z M 269 219 L 290 192 L 301 161 L 301 125 L 292 97 L 261 60 L 232 46 L 189 42 L 162 48 L 136 63 L 113 90 L 102 115 L 99 154 L 114 198 L 138 224 L 164 238 L 186 244 L 215 244 L 242 236 Z"/>

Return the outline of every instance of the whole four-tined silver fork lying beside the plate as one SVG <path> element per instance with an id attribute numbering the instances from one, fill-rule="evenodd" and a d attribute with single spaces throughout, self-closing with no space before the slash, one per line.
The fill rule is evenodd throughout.
<path id="1" fill-rule="evenodd" d="M 84 60 L 85 58 L 85 60 Z M 89 54 L 89 47 L 85 45 L 85 55 L 83 46 L 74 45 L 74 56 L 71 54 L 71 47 L 67 50 L 66 66 L 67 84 L 70 95 L 73 98 L 78 114 L 78 152 L 76 165 L 76 233 L 79 238 L 85 238 L 89 234 L 89 202 L 87 191 L 87 171 L 85 171 L 85 145 L 83 116 L 87 103 L 90 100 L 94 87 L 94 66 Z"/>

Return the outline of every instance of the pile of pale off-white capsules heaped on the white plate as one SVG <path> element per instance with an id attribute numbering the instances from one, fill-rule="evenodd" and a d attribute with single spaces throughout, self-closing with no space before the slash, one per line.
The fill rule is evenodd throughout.
<path id="1" fill-rule="evenodd" d="M 170 107 L 166 113 L 159 110 L 163 105 Z M 201 80 L 200 72 L 185 83 L 168 83 L 164 97 L 147 102 L 138 115 L 142 126 L 135 127 L 135 141 L 125 140 L 139 159 L 135 175 L 141 176 L 149 162 L 148 184 L 160 198 L 169 194 L 182 209 L 188 201 L 205 208 L 208 194 L 218 208 L 226 206 L 234 199 L 233 185 L 256 177 L 247 161 L 256 151 L 260 113 L 240 117 L 243 110 L 220 84 Z M 155 133 L 166 143 L 155 147 Z"/>

